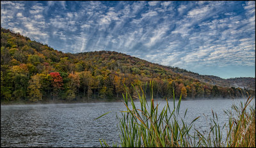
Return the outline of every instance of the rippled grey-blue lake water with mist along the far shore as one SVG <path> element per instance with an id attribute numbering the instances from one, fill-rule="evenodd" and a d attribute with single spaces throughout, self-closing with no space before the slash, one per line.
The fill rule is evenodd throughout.
<path id="1" fill-rule="evenodd" d="M 184 115 L 188 108 L 185 119 L 188 123 L 201 116 L 195 126 L 204 131 L 209 128 L 211 110 L 223 125 L 228 122 L 223 110 L 240 101 L 246 99 L 182 101 L 180 114 Z M 158 103 L 159 108 L 163 108 L 166 102 Z M 255 104 L 255 100 L 252 103 Z M 120 139 L 116 115 L 120 115 L 121 110 L 125 110 L 122 102 L 1 105 L 1 147 L 100 147 L 99 138 L 112 145 Z M 110 113 L 93 121 L 106 112 Z"/>

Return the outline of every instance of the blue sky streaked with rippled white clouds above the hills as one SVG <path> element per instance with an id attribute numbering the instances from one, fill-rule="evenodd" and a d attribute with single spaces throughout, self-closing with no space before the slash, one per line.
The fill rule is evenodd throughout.
<path id="1" fill-rule="evenodd" d="M 1 1 L 1 26 L 63 52 L 255 77 L 255 1 Z"/>

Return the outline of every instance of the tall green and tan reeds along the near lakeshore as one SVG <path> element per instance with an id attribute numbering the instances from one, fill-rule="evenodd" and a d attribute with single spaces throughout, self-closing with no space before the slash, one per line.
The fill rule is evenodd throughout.
<path id="1" fill-rule="evenodd" d="M 189 131 L 193 127 L 193 122 L 200 116 L 189 124 L 184 122 L 188 109 L 184 115 L 179 114 L 181 95 L 175 106 L 173 90 L 173 109 L 166 99 L 166 105 L 160 110 L 159 104 L 154 102 L 152 82 L 150 82 L 150 104 L 142 88 L 141 93 L 138 91 L 137 93 L 140 107 L 135 106 L 128 91 L 123 94 L 126 110 L 122 111 L 122 117 L 118 118 L 121 147 L 255 147 L 255 107 L 250 106 L 250 110 L 246 111 L 246 107 L 253 100 L 250 96 L 244 105 L 241 103 L 241 107 L 232 105 L 232 110 L 225 111 L 229 115 L 228 124 L 221 127 L 217 114 L 212 112 L 211 128 L 208 133 L 202 134 L 195 129 L 191 134 Z M 181 121 L 181 124 L 178 121 Z M 225 140 L 223 140 L 224 129 L 227 129 Z M 109 147 L 104 140 L 100 140 L 100 144 L 102 147 Z M 117 146 L 117 144 L 112 145 L 112 147 Z"/>

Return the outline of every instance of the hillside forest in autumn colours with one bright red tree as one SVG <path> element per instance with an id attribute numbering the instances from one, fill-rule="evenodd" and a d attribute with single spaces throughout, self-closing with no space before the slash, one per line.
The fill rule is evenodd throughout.
<path id="1" fill-rule="evenodd" d="M 168 66 L 112 51 L 63 53 L 1 27 L 1 103 L 121 98 L 125 87 L 155 98 L 234 98 L 255 90 L 211 85 Z"/>

